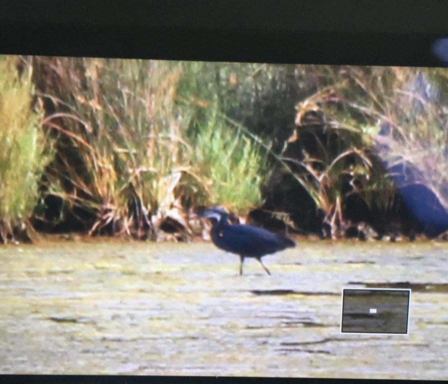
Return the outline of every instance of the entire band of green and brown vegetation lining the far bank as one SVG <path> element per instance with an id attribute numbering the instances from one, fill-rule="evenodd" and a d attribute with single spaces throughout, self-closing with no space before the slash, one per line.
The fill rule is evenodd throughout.
<path id="1" fill-rule="evenodd" d="M 448 207 L 444 69 L 0 64 L 3 239 L 31 213 L 44 231 L 156 239 L 168 220 L 190 235 L 190 209 L 211 204 L 263 207 L 287 223 L 315 214 L 338 238 L 353 195 L 371 220 L 392 220 L 397 167 Z"/>

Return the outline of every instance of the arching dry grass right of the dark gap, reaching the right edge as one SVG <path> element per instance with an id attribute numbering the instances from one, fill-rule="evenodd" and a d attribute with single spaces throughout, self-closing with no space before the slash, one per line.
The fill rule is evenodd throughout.
<path id="1" fill-rule="evenodd" d="M 446 71 L 307 69 L 314 76 L 321 73 L 317 78 L 323 80 L 317 81 L 313 95 L 297 105 L 296 135 L 314 130 L 319 149 L 313 156 L 305 152 L 303 160 L 296 159 L 301 165 L 296 176 L 324 210 L 333 237 L 344 222 L 340 201 L 352 193 L 361 196 L 370 209 L 386 213 L 396 186 L 417 182 L 433 190 L 448 207 L 444 192 L 448 190 L 447 87 L 442 86 Z M 330 144 L 319 137 L 322 129 L 324 137 L 331 137 Z M 394 169 L 406 164 L 413 175 L 399 181 Z M 344 188 L 347 182 L 353 188 Z"/>

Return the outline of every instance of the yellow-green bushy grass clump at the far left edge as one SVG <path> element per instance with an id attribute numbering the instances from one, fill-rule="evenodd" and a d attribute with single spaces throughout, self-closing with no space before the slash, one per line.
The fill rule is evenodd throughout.
<path id="1" fill-rule="evenodd" d="M 42 111 L 31 107 L 32 66 L 17 71 L 16 57 L 0 57 L 0 237 L 13 239 L 38 200 L 38 181 L 51 156 L 40 123 Z M 20 232 L 20 231 L 19 231 Z"/>

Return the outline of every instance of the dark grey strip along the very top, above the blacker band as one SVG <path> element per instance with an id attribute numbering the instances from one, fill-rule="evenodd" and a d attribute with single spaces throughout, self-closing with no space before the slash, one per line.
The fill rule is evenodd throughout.
<path id="1" fill-rule="evenodd" d="M 444 34 L 447 0 L 2 0 L 0 23 Z"/>

